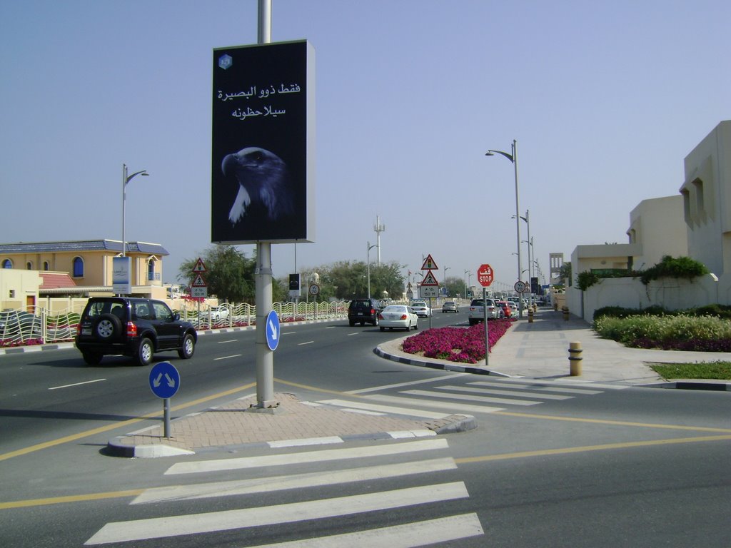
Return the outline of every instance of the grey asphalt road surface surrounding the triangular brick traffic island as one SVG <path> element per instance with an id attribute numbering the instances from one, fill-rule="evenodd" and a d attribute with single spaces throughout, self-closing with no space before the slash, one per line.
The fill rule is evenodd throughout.
<path id="1" fill-rule="evenodd" d="M 466 316 L 436 313 L 433 325 L 455 321 Z M 142 419 L 161 412 L 148 368 L 125 359 L 89 368 L 75 350 L 0 357 L 4 544 L 728 545 L 727 392 L 577 388 L 373 354 L 377 343 L 400 336 L 346 321 L 284 325 L 276 389 L 311 400 L 333 397 L 322 392 L 330 390 L 383 405 L 439 404 L 471 411 L 477 429 L 337 447 L 107 457 L 113 435 L 159 422 Z M 170 354 L 170 361 L 181 371 L 178 414 L 254 392 L 254 332 L 204 335 L 193 359 Z M 265 459 L 232 466 L 253 457 Z M 219 461 L 225 464 L 206 468 Z M 194 472 L 178 473 L 179 463 Z M 154 490 L 170 486 L 180 487 Z M 193 523 L 206 525 L 189 530 Z M 349 536 L 327 539 L 336 535 Z"/>

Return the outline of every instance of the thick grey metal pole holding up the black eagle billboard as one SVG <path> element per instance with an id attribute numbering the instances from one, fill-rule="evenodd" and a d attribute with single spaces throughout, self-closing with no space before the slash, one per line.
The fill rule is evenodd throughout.
<path id="1" fill-rule="evenodd" d="M 271 0 L 259 0 L 257 43 L 271 42 Z M 272 309 L 271 243 L 257 243 L 257 408 L 276 408 L 274 401 L 274 352 L 267 344 L 266 319 Z"/>

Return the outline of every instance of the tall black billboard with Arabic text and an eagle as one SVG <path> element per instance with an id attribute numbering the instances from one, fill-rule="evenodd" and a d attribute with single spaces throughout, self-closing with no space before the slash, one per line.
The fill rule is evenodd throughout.
<path id="1" fill-rule="evenodd" d="M 211 242 L 314 241 L 314 48 L 213 50 Z"/>

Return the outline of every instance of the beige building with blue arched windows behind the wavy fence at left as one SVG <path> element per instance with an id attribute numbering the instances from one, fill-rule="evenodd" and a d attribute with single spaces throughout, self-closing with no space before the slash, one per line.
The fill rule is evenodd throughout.
<path id="1" fill-rule="evenodd" d="M 29 308 L 54 295 L 111 294 L 113 258 L 121 251 L 119 240 L 0 244 L 0 308 Z M 157 243 L 127 242 L 126 255 L 132 262 L 132 294 L 164 298 L 167 251 Z"/>

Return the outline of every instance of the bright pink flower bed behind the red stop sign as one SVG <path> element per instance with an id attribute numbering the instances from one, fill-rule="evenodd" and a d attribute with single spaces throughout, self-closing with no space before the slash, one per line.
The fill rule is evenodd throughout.
<path id="1" fill-rule="evenodd" d="M 490 348 L 498 342 L 512 324 L 510 319 L 492 320 L 488 325 Z M 450 362 L 477 363 L 485 359 L 485 325 L 472 327 L 440 327 L 420 332 L 404 340 L 407 354 L 428 358 L 448 359 Z"/>

